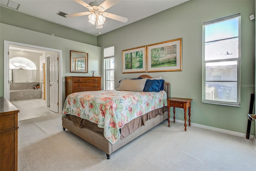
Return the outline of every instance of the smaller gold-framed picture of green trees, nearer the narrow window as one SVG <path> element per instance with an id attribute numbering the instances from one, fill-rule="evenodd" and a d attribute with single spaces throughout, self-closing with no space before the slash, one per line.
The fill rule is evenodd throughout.
<path id="1" fill-rule="evenodd" d="M 122 52 L 123 73 L 146 72 L 146 46 Z"/>

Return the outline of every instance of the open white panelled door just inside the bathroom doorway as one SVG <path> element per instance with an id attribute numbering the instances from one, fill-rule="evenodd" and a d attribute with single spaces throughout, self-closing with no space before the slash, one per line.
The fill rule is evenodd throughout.
<path id="1" fill-rule="evenodd" d="M 59 112 L 58 105 L 58 55 L 50 56 L 50 110 Z"/>

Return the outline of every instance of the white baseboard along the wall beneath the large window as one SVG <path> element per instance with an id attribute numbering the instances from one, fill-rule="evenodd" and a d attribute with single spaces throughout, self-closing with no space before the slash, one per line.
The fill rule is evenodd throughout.
<path id="1" fill-rule="evenodd" d="M 170 118 L 170 121 L 173 121 L 172 118 Z M 175 119 L 175 122 L 176 123 L 183 123 L 184 124 L 184 120 L 178 120 L 178 119 Z M 187 122 L 187 125 L 188 125 L 188 122 Z M 240 133 L 240 132 L 235 132 L 235 131 L 229 131 L 229 130 L 226 130 L 226 129 L 220 129 L 220 128 L 216 128 L 216 127 L 210 127 L 210 126 L 206 126 L 206 125 L 200 125 L 198 123 L 190 123 L 191 126 L 194 126 L 194 127 L 200 127 L 200 128 L 204 128 L 204 129 L 209 129 L 209 130 L 212 130 L 212 131 L 217 131 L 217 132 L 222 132 L 222 133 L 227 133 L 227 134 L 230 134 L 230 135 L 236 135 L 238 137 L 244 137 L 246 138 L 246 133 Z M 256 139 L 254 137 L 254 135 L 250 135 L 249 137 L 250 139 L 253 139 L 254 140 L 254 147 L 256 148 Z"/>

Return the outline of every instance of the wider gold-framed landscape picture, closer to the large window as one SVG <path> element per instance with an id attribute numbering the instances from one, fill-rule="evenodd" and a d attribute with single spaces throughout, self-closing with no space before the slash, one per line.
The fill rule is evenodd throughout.
<path id="1" fill-rule="evenodd" d="M 147 72 L 182 71 L 182 38 L 147 46 Z"/>

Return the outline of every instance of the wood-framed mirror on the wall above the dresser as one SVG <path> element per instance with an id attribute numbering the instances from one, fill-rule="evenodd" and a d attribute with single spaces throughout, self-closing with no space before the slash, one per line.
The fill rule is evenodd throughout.
<path id="1" fill-rule="evenodd" d="M 88 73 L 88 53 L 70 50 L 70 72 Z"/>

